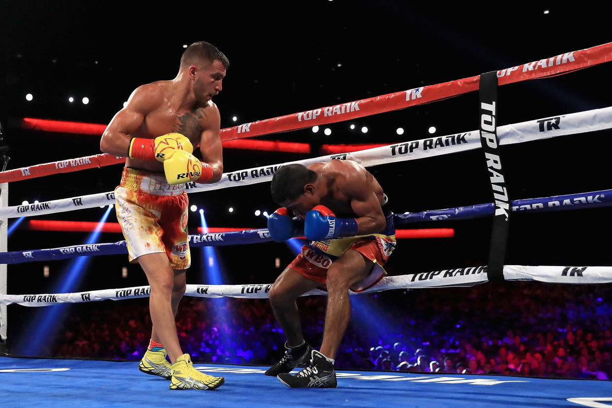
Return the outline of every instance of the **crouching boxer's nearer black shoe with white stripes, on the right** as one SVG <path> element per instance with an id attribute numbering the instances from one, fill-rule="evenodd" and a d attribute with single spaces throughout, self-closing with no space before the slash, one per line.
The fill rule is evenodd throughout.
<path id="1" fill-rule="evenodd" d="M 278 374 L 278 380 L 291 388 L 336 388 L 338 382 L 336 380 L 336 372 L 334 371 L 334 363 L 316 350 L 312 351 L 312 360 L 310 365 L 304 368 L 297 374 L 281 373 Z"/>

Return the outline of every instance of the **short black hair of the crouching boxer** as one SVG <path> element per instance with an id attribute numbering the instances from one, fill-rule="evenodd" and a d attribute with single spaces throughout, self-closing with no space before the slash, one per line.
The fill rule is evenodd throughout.
<path id="1" fill-rule="evenodd" d="M 304 193 L 304 186 L 316 180 L 316 172 L 297 163 L 277 169 L 272 177 L 270 190 L 275 203 L 293 201 Z M 377 347 L 378 349 L 378 347 Z"/>

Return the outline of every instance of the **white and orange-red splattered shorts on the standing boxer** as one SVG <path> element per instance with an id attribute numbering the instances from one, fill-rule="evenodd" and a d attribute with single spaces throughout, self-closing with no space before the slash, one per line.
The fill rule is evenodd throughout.
<path id="1" fill-rule="evenodd" d="M 170 185 L 163 174 L 126 167 L 114 195 L 130 262 L 163 252 L 172 269 L 190 267 L 184 184 Z"/>

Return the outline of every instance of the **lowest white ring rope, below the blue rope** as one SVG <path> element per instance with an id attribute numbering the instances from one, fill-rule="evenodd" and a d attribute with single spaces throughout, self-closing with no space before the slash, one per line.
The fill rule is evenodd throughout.
<path id="1" fill-rule="evenodd" d="M 385 276 L 370 289 L 361 292 L 349 290 L 349 294 L 365 294 L 390 289 L 419 289 L 424 287 L 474 286 L 487 282 L 487 267 L 438 270 L 414 275 Z M 564 267 L 505 265 L 504 278 L 510 281 L 540 281 L 547 283 L 600 284 L 612 283 L 612 267 Z M 187 296 L 235 297 L 242 299 L 265 299 L 269 297 L 272 284 L 241 285 L 195 285 L 188 284 Z M 58 303 L 84 303 L 99 300 L 124 300 L 148 297 L 150 286 L 102 289 L 66 294 L 0 295 L 0 305 L 17 303 L 23 306 L 49 306 Z M 325 291 L 313 289 L 302 296 L 324 295 Z"/>

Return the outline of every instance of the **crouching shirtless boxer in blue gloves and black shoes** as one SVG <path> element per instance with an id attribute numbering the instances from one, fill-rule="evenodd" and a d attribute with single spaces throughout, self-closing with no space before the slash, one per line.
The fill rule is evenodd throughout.
<path id="1" fill-rule="evenodd" d="M 303 229 L 311 242 L 270 290 L 287 341 L 285 355 L 266 375 L 277 376 L 288 387 L 336 387 L 334 358 L 351 314 L 348 289 L 363 291 L 386 275 L 383 265 L 395 248 L 393 213 L 383 188 L 354 161 L 282 166 L 271 190 L 272 199 L 283 206 L 268 218 L 272 238 L 287 240 Z M 304 340 L 296 299 L 324 286 L 327 313 L 319 352 Z"/>

